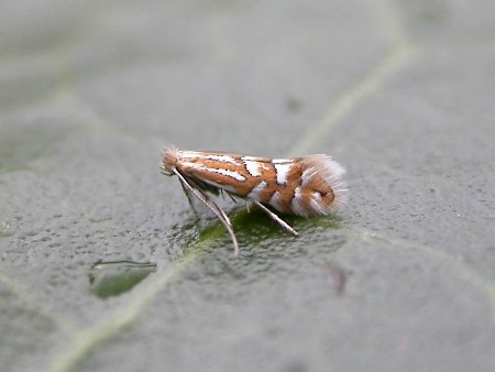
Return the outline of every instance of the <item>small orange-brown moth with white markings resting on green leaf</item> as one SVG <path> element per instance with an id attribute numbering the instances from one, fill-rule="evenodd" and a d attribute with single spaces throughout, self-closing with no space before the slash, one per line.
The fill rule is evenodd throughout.
<path id="1" fill-rule="evenodd" d="M 193 209 L 191 195 L 205 204 L 228 230 L 235 255 L 239 244 L 232 222 L 210 195 L 227 193 L 252 201 L 286 231 L 297 236 L 272 209 L 295 216 L 326 216 L 345 203 L 345 173 L 330 156 L 317 154 L 294 158 L 265 158 L 230 153 L 166 149 L 161 169 L 176 175 Z"/>

